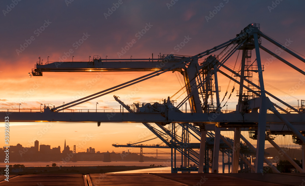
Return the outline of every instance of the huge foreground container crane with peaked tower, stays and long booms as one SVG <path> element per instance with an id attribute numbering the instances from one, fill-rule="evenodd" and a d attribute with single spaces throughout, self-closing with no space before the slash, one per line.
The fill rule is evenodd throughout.
<path id="1" fill-rule="evenodd" d="M 303 107 L 301 109 L 299 107 L 293 107 L 265 90 L 263 80 L 264 67 L 261 64 L 260 49 L 295 69 L 297 72 L 303 75 L 305 75 L 305 72 L 264 47 L 261 44 L 261 38 L 266 39 L 277 47 L 281 47 L 284 51 L 305 63 L 305 59 L 301 58 L 298 54 L 262 33 L 259 24 L 252 23 L 237 34 L 235 38 L 192 57 L 170 54 L 160 55 L 157 59 L 102 59 L 99 56 L 94 56 L 93 60 L 89 60 L 88 62 L 48 62 L 41 64 L 39 61 L 36 63 L 35 68 L 32 69 L 33 76 L 42 76 L 43 72 L 151 71 L 151 73 L 58 107 L 45 104 L 43 112 L 26 113 L 9 112 L 8 110 L 8 112 L 1 112 L 0 115 L 2 115 L 2 118 L 9 115 L 10 121 L 12 122 L 97 122 L 98 125 L 101 122 L 143 123 L 156 136 L 160 136 L 160 133 L 171 135 L 171 142 L 165 142 L 166 140 L 163 142 L 182 155 L 187 156 L 188 159 L 198 163 L 198 172 L 203 172 L 204 165 L 206 167 L 209 166 L 209 163 L 205 162 L 207 131 L 214 131 L 212 172 L 218 172 L 217 162 L 219 153 L 217 152 L 219 152 L 220 139 L 224 142 L 226 141 L 220 132 L 221 130 L 227 130 L 229 128 L 229 130 L 234 130 L 234 140 L 232 143 L 227 144 L 233 149 L 233 173 L 238 172 L 239 161 L 244 161 L 249 164 L 249 167 L 255 170 L 256 173 L 263 171 L 263 163 L 265 161 L 274 172 L 278 172 L 264 158 L 265 140 L 268 140 L 275 148 L 280 150 L 269 135 L 285 132 L 286 134 L 295 135 L 303 145 L 304 162 L 305 146 L 303 142 L 305 142 L 305 137 L 302 135 L 302 132 L 305 128 L 305 114 L 303 112 L 304 109 L 302 109 Z M 220 50 L 221 52 L 216 54 Z M 252 50 L 256 54 L 255 60 L 252 60 Z M 242 54 L 241 68 L 238 71 L 235 68 L 231 69 L 228 63 L 226 63 L 236 51 Z M 204 60 L 199 62 L 198 60 L 201 58 Z M 232 73 L 233 77 L 232 75 L 228 75 L 224 70 Z M 100 112 L 60 112 L 170 71 L 180 72 L 185 81 L 185 86 L 176 94 L 185 91 L 187 96 L 177 106 L 173 105 L 173 96 L 167 100 L 163 100 L 161 103 L 142 103 L 132 104 L 130 106 L 125 105 L 115 97 L 129 111 L 128 113 L 117 112 L 115 113 L 115 117 L 109 117 L 111 116 L 109 113 Z M 253 72 L 258 74 L 259 83 L 253 82 Z M 218 86 L 217 74 L 222 74 L 239 85 L 239 90 L 237 91 L 239 100 L 235 111 L 223 113 L 221 110 L 222 101 L 219 98 L 220 88 Z M 228 98 L 231 97 L 233 91 L 234 88 Z M 225 93 L 224 99 L 227 93 Z M 269 97 L 285 105 L 287 109 L 271 102 Z M 184 113 L 179 109 L 186 102 L 190 105 L 190 113 Z M 269 112 L 268 114 L 267 111 Z M 156 124 L 161 131 L 157 131 L 150 123 Z M 172 132 L 165 129 L 165 125 L 173 123 L 188 128 L 188 132 L 192 134 L 196 133 L 194 132 L 195 129 L 190 130 L 192 127 L 196 127 L 200 131 L 200 135 L 197 136 L 197 138 L 200 138 L 199 154 L 196 154 L 190 147 L 177 148 L 174 145 L 174 143 L 182 142 L 184 139 L 179 140 L 173 136 L 175 127 L 172 127 Z M 254 148 L 241 136 L 240 132 L 242 130 L 248 130 L 250 127 L 256 129 L 255 137 L 257 138 L 257 148 Z M 162 137 L 160 139 L 162 140 Z M 256 153 L 255 166 L 247 162 L 244 154 L 240 154 L 240 139 Z M 292 165 L 295 165 L 298 171 L 305 172 L 304 163 L 303 168 L 301 168 L 291 158 L 288 156 L 286 158 Z"/>

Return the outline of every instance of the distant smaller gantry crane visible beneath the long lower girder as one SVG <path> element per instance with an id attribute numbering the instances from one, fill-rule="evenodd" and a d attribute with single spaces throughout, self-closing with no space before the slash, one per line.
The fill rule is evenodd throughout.
<path id="1" fill-rule="evenodd" d="M 192 125 L 190 124 L 185 124 L 185 125 L 181 125 L 181 127 L 187 127 L 190 126 L 192 127 Z M 169 128 L 171 128 L 171 126 L 169 126 Z M 178 136 L 177 134 L 173 134 L 174 137 L 180 138 L 180 136 Z M 196 136 L 196 132 L 192 133 L 193 136 L 195 136 L 197 139 L 199 137 L 200 139 L 200 132 L 198 130 L 198 137 Z M 182 130 L 182 135 L 181 135 L 181 139 L 176 139 L 175 141 L 183 141 L 183 130 Z M 156 138 L 152 138 L 152 139 L 156 139 Z M 169 142 L 170 146 L 167 145 L 160 145 L 160 144 L 153 144 L 153 145 L 143 145 L 142 142 L 147 142 L 149 140 L 152 139 L 147 139 L 141 142 L 134 142 L 134 143 L 127 143 L 127 144 L 117 144 L 117 143 L 113 143 L 112 146 L 114 147 L 126 147 L 126 148 L 140 148 L 140 161 L 143 160 L 142 159 L 142 154 L 143 154 L 143 148 L 150 148 L 150 149 L 157 149 L 157 153 L 158 153 L 158 149 L 199 149 L 200 143 L 185 143 L 185 142 L 174 142 L 173 140 L 171 140 L 170 136 L 167 136 L 166 140 Z M 232 152 L 231 152 L 231 148 L 230 146 L 233 145 L 233 140 L 229 139 L 229 138 L 224 138 L 225 141 L 220 140 L 220 145 L 219 145 L 219 152 L 222 153 L 222 163 L 223 163 L 223 169 L 222 172 L 224 173 L 224 166 L 227 164 L 228 165 L 228 170 L 230 171 L 230 167 L 231 167 L 231 162 L 230 162 L 230 158 L 232 157 Z M 207 132 L 207 138 L 206 138 L 206 149 L 205 149 L 205 166 L 204 166 L 204 172 L 209 172 L 209 170 L 212 168 L 211 165 L 213 165 L 212 162 L 212 157 L 213 157 L 213 153 L 214 153 L 214 140 L 215 140 L 215 136 L 212 132 Z M 162 143 L 161 143 L 162 144 Z M 249 172 L 249 166 L 251 166 L 251 164 L 244 162 L 243 160 L 247 160 L 248 158 L 251 157 L 251 155 L 254 157 L 254 152 L 253 150 L 247 146 L 246 144 L 241 143 L 240 148 L 243 151 L 243 155 L 241 156 L 241 162 L 239 163 L 240 169 L 243 170 L 243 167 L 245 168 L 244 171 L 245 172 Z M 216 152 L 217 153 L 217 152 Z M 198 161 L 192 161 L 192 159 L 188 158 L 188 156 L 183 156 L 183 154 L 181 153 L 181 166 L 177 166 L 178 165 L 178 154 L 176 153 L 170 153 L 171 154 L 171 171 L 172 173 L 177 173 L 177 172 L 188 172 L 188 171 L 198 171 L 198 167 L 196 166 L 192 166 L 192 162 L 195 163 L 195 165 L 198 166 Z M 211 154 L 211 158 L 209 157 L 209 154 Z M 193 153 L 191 154 L 192 158 L 194 158 L 195 160 L 198 160 L 199 158 L 199 154 L 196 151 L 193 151 Z M 224 162 L 224 157 L 228 158 L 228 162 L 225 163 Z M 190 163 L 190 161 L 192 161 Z M 253 167 L 253 166 L 252 166 Z"/>

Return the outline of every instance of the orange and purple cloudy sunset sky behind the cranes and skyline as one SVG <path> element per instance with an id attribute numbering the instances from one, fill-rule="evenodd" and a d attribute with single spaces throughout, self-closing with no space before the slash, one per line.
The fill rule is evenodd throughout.
<path id="1" fill-rule="evenodd" d="M 67 56 L 65 61 L 72 61 L 72 56 L 74 61 L 88 61 L 89 56 L 93 57 L 93 55 L 102 58 L 106 56 L 107 58 L 131 56 L 149 58 L 153 53 L 156 58 L 159 53 L 174 52 L 178 55 L 192 56 L 236 37 L 236 34 L 249 23 L 260 23 L 260 30 L 280 43 L 284 44 L 290 40 L 289 48 L 299 52 L 300 55 L 305 55 L 304 6 L 305 2 L 301 0 L 179 0 L 177 2 L 174 0 L 74 0 L 72 2 L 61 0 L 21 1 L 16 5 L 11 0 L 3 0 L 0 2 L 2 10 L 0 109 L 18 109 L 19 103 L 21 103 L 20 109 L 39 109 L 40 104 L 47 103 L 59 106 L 63 102 L 68 103 L 78 97 L 88 96 L 147 74 L 147 72 L 105 72 L 97 79 L 96 72 L 49 72 L 43 73 L 42 77 L 30 78 L 28 72 L 31 72 L 36 61 L 39 61 L 39 56 L 43 59 L 43 63 L 47 60 L 59 61 L 63 56 Z M 110 11 L 111 9 L 115 11 Z M 146 33 L 141 37 L 137 35 L 147 25 L 150 25 L 150 28 Z M 177 50 L 177 44 L 183 42 L 185 37 L 191 39 L 184 47 Z M 77 45 L 76 42 L 80 39 L 84 41 Z M 121 48 L 133 39 L 136 43 L 130 50 L 123 56 L 118 56 L 118 52 L 122 52 Z M 278 47 L 272 46 L 265 39 L 262 39 L 262 45 L 273 52 L 278 50 Z M 73 51 L 72 54 L 69 53 L 70 49 Z M 292 56 L 284 52 L 279 55 L 298 68 L 305 69 L 305 64 Z M 234 65 L 236 57 L 237 55 L 233 55 L 228 64 Z M 304 76 L 281 61 L 273 60 L 269 63 L 270 58 L 271 56 L 261 51 L 262 64 L 265 65 L 263 73 L 265 83 L 293 97 L 286 97 L 286 94 L 267 84 L 265 89 L 285 99 L 289 104 L 297 106 L 298 99 L 305 99 Z M 237 64 L 239 66 L 240 58 Z M 117 91 L 114 95 L 119 96 L 126 104 L 159 102 L 181 88 L 179 82 L 181 75 L 175 73 L 178 78 L 175 74 L 167 72 Z M 257 77 L 257 74 L 254 77 Z M 222 98 L 228 86 L 228 79 L 219 75 L 218 80 Z M 296 86 L 297 84 L 300 86 Z M 232 87 L 231 82 L 229 91 Z M 237 86 L 235 90 L 236 88 Z M 86 91 L 84 92 L 83 89 Z M 135 90 L 139 91 L 134 94 Z M 228 101 L 228 110 L 235 109 L 237 104 L 235 95 L 236 92 Z M 99 103 L 98 109 L 119 109 L 113 94 L 91 100 L 75 108 L 95 109 L 96 102 Z M 3 120 L 4 118 L 1 122 Z M 92 135 L 83 149 L 91 146 L 96 151 L 119 152 L 127 149 L 115 149 L 111 146 L 112 143 L 126 144 L 139 141 L 148 130 L 141 124 L 102 124 L 97 127 L 96 123 L 56 123 L 41 135 L 39 131 L 47 125 L 47 123 L 11 123 L 10 145 L 20 143 L 27 146 L 36 138 L 42 144 L 51 145 L 51 148 L 61 146 L 63 149 L 66 139 L 67 145 L 73 148 L 73 145 L 83 141 L 87 135 Z M 3 125 L 0 129 L 4 130 Z M 0 133 L 2 139 L 3 133 Z M 157 142 L 159 141 L 154 140 L 146 143 Z M 4 146 L 4 142 L 2 144 Z"/>

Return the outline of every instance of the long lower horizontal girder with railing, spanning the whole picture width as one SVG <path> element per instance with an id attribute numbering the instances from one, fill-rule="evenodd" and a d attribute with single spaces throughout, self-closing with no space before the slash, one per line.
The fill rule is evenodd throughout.
<path id="1" fill-rule="evenodd" d="M 122 112 L 0 112 L 0 117 L 9 117 L 10 122 L 101 122 L 101 123 L 204 123 L 205 129 L 215 130 L 215 124 L 236 123 L 247 130 L 247 123 L 257 123 L 258 113 L 122 113 Z M 282 114 L 297 130 L 305 128 L 305 113 Z M 290 131 L 275 114 L 267 114 L 267 127 L 272 131 Z M 226 127 L 225 125 L 222 127 Z M 230 125 L 230 127 L 232 127 Z"/>

